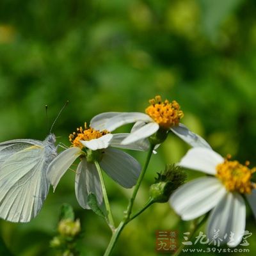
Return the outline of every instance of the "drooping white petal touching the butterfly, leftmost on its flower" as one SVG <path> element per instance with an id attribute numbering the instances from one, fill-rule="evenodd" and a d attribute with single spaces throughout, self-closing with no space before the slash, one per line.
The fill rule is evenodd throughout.
<path id="1" fill-rule="evenodd" d="M 55 190 L 61 177 L 70 168 L 71 164 L 81 155 L 78 147 L 67 148 L 49 164 L 47 168 L 47 179 L 51 182 Z"/>

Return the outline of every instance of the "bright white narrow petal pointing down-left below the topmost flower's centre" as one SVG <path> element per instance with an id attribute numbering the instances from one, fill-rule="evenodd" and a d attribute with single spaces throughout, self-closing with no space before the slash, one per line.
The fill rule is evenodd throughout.
<path id="1" fill-rule="evenodd" d="M 122 141 L 122 145 L 127 145 L 134 143 L 138 140 L 143 140 L 145 138 L 148 138 L 152 134 L 154 134 L 159 129 L 159 125 L 157 123 L 148 123 L 145 124 L 140 129 L 136 130 L 135 132 L 132 132 L 125 140 Z"/>

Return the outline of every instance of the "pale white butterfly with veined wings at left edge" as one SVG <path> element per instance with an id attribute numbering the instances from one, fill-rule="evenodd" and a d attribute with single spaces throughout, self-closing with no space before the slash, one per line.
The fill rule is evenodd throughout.
<path id="1" fill-rule="evenodd" d="M 49 134 L 44 141 L 0 143 L 0 218 L 28 222 L 38 214 L 49 191 L 45 174 L 57 156 L 55 141 Z"/>

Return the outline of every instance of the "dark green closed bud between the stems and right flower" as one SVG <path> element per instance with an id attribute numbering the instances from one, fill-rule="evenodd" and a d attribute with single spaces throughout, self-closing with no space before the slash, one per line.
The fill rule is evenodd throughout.
<path id="1" fill-rule="evenodd" d="M 157 173 L 156 182 L 150 186 L 149 194 L 153 202 L 165 203 L 175 189 L 184 183 L 187 175 L 179 166 L 166 164 L 163 173 Z"/>

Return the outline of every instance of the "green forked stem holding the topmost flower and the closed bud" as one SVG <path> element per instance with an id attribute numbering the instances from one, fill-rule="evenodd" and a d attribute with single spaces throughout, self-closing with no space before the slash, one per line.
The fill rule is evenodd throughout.
<path id="1" fill-rule="evenodd" d="M 122 220 L 120 222 L 120 224 L 118 225 L 118 227 L 116 228 L 116 230 L 113 232 L 113 235 L 109 241 L 109 244 L 108 244 L 108 248 L 106 249 L 106 252 L 104 253 L 104 256 L 109 256 L 110 253 L 112 252 L 115 244 L 116 244 L 116 241 L 118 239 L 118 237 L 120 236 L 123 228 L 125 227 L 125 225 L 127 225 L 127 223 L 129 223 L 129 221 L 133 220 L 134 218 L 136 218 L 138 215 L 141 214 L 141 212 L 145 211 L 145 209 L 147 209 L 153 202 L 151 202 L 151 200 L 148 200 L 148 202 L 145 204 L 145 206 L 140 210 L 138 211 L 136 214 L 134 214 L 131 218 L 131 211 L 132 211 L 132 206 L 133 206 L 133 203 L 134 203 L 134 200 L 136 198 L 136 195 L 138 193 L 138 190 L 140 188 L 140 184 L 143 180 L 143 177 L 145 175 L 145 172 L 147 171 L 147 167 L 148 167 L 148 164 L 149 164 L 149 161 L 150 161 L 150 157 L 152 156 L 152 152 L 154 150 L 154 145 L 150 145 L 150 150 L 148 151 L 148 155 L 147 155 L 147 159 L 146 159 L 146 162 L 145 162 L 145 165 L 144 165 L 144 168 L 143 170 L 141 171 L 140 173 L 140 177 L 139 179 L 137 180 L 137 183 L 135 185 L 135 188 L 134 188 L 134 191 L 132 193 L 132 196 L 131 196 L 131 199 L 129 201 L 129 205 L 127 207 L 127 211 L 125 211 L 125 214 L 124 214 L 124 220 Z"/>

